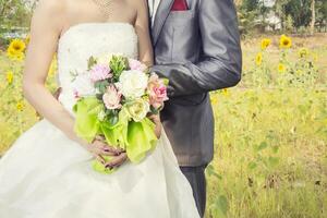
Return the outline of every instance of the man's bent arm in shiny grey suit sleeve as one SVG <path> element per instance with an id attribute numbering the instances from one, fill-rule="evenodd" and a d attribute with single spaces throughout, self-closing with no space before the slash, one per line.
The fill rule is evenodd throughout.
<path id="1" fill-rule="evenodd" d="M 169 78 L 170 97 L 206 93 L 237 85 L 241 80 L 242 51 L 232 0 L 202 0 L 199 31 L 202 60 L 197 63 L 158 64 L 160 77 Z"/>

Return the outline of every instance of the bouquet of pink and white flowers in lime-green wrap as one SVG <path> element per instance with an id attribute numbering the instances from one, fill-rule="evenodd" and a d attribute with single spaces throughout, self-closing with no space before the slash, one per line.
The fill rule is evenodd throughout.
<path id="1" fill-rule="evenodd" d="M 157 143 L 155 123 L 147 116 L 164 108 L 168 80 L 120 55 L 90 57 L 88 70 L 73 75 L 76 134 L 89 143 L 102 135 L 109 145 L 126 150 L 131 162 L 143 160 Z M 93 168 L 112 172 L 97 160 Z"/>

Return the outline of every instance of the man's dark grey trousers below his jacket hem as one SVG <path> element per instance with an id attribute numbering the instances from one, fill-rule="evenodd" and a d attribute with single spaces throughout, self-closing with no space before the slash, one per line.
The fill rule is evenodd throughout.
<path id="1" fill-rule="evenodd" d="M 199 167 L 180 167 L 193 189 L 196 207 L 201 217 L 204 217 L 206 208 L 206 177 L 207 165 Z"/>

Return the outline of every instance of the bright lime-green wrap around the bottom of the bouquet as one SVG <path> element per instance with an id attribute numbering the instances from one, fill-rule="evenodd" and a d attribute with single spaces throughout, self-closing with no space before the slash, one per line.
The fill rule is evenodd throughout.
<path id="1" fill-rule="evenodd" d="M 126 150 L 131 162 L 138 164 L 146 154 L 153 150 L 157 144 L 155 123 L 148 118 L 135 122 L 129 116 L 125 108 L 118 114 L 116 124 L 99 120 L 98 114 L 105 110 L 104 104 L 96 97 L 80 99 L 73 108 L 75 112 L 74 131 L 76 134 L 90 143 L 96 135 L 105 135 L 109 145 L 121 147 Z M 106 160 L 112 157 L 105 157 Z M 94 161 L 93 168 L 101 173 L 112 173 L 116 169 L 106 169 L 99 161 Z"/>

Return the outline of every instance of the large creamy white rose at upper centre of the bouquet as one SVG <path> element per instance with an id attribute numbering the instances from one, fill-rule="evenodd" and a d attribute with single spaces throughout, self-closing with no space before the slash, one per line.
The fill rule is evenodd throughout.
<path id="1" fill-rule="evenodd" d="M 126 98 L 137 98 L 145 94 L 148 77 L 142 71 L 123 71 L 118 87 Z"/>

